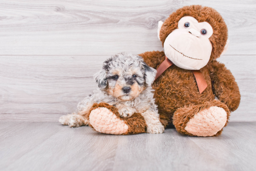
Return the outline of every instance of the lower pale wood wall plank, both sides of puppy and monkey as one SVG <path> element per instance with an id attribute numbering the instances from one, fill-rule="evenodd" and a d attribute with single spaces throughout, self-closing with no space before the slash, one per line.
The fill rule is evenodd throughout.
<path id="1" fill-rule="evenodd" d="M 0 56 L 0 120 L 54 122 L 72 113 L 97 88 L 93 75 L 108 57 Z M 231 70 L 242 96 L 230 121 L 256 121 L 256 56 L 224 55 L 219 61 Z"/>

